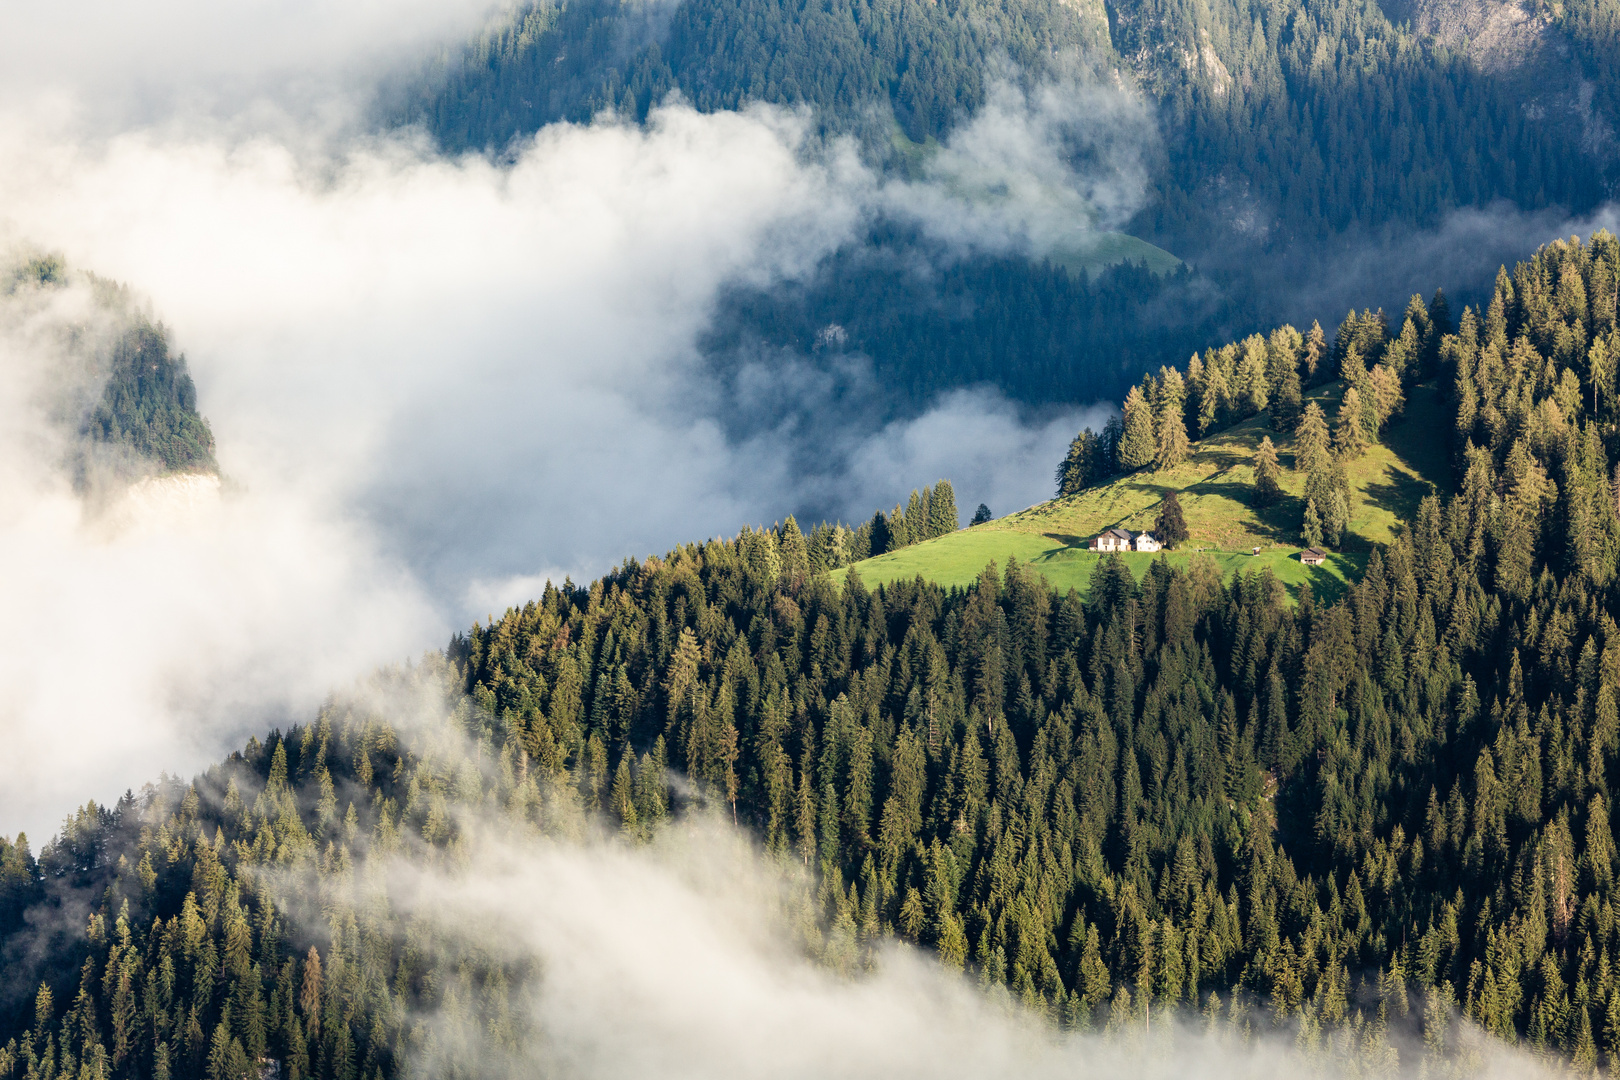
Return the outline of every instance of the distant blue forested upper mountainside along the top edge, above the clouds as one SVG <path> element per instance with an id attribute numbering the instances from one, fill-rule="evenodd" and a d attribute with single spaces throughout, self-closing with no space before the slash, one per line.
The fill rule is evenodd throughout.
<path id="1" fill-rule="evenodd" d="M 1547 107 L 1580 97 L 1575 71 L 1550 73 L 1536 86 L 1549 102 L 1521 108 L 1516 83 L 1351 0 L 684 0 L 664 21 L 591 0 L 520 10 L 439 60 L 397 118 L 452 151 L 501 149 L 601 108 L 642 118 L 679 89 L 701 110 L 810 104 L 833 130 L 875 125 L 881 147 L 885 117 L 919 142 L 948 136 L 1006 62 L 1030 81 L 1124 71 L 1165 134 L 1144 235 L 1215 257 L 1238 236 L 1288 246 L 1432 225 L 1494 199 L 1594 206 L 1620 180 L 1588 146 L 1592 123 L 1620 121 L 1615 19 L 1602 5 L 1565 6 L 1555 32 L 1584 63 L 1581 107 L 1596 108 L 1581 117 Z"/>

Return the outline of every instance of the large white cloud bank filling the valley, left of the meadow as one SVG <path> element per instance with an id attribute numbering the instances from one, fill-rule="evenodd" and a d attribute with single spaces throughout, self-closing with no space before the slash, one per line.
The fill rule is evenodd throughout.
<path id="1" fill-rule="evenodd" d="M 245 71 L 274 71 L 272 45 Z M 329 66 L 327 84 L 350 78 Z M 5 227 L 151 304 L 227 481 L 201 510 L 109 533 L 40 479 L 50 453 L 0 465 L 0 546 L 26 567 L 0 586 L 0 831 L 37 842 L 76 801 L 301 719 L 332 682 L 548 576 L 794 512 L 860 520 L 941 476 L 969 512 L 1029 505 L 1089 419 L 990 390 L 910 419 L 810 408 L 784 363 L 760 364 L 750 393 L 797 415 L 737 434 L 747 395 L 697 345 L 719 290 L 804 277 L 897 201 L 954 212 L 813 141 L 804 113 L 672 100 L 645 126 L 556 125 L 496 165 L 411 133 L 282 138 L 303 113 L 275 100 L 280 120 L 248 133 L 178 110 L 110 133 L 29 99 L 0 110 Z M 1074 134 L 1056 100 L 995 99 L 1024 147 L 1003 173 L 1043 162 L 1048 193 L 1079 175 L 1030 149 Z M 1003 151 L 975 131 L 941 160 L 988 167 Z M 1019 219 L 1021 198 L 974 243 L 1035 243 L 1051 214 Z M 8 369 L 39 363 L 24 351 L 6 345 Z"/>

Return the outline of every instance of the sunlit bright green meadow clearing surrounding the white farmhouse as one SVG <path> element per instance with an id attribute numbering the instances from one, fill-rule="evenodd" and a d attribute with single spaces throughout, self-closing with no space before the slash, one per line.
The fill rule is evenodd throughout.
<path id="1" fill-rule="evenodd" d="M 1340 392 L 1335 382 L 1309 397 L 1332 416 L 1338 410 Z M 1173 470 L 1119 476 L 1077 495 L 867 559 L 855 563 L 855 570 L 867 586 L 919 575 L 944 586 L 966 586 L 987 563 L 1003 565 L 1013 557 L 1038 570 L 1059 591 L 1074 588 L 1084 594 L 1102 559 L 1087 551 L 1090 538 L 1110 525 L 1152 528 L 1165 492 L 1174 491 L 1191 539 L 1173 552 L 1123 555 L 1132 573 L 1140 576 L 1160 557 L 1171 563 L 1202 557 L 1213 560 L 1226 575 L 1268 568 L 1294 594 L 1309 581 L 1317 596 L 1330 599 L 1361 573 L 1374 544 L 1390 542 L 1396 529 L 1416 515 L 1424 495 L 1450 491 L 1448 429 L 1439 390 L 1434 385 L 1414 387 L 1403 418 L 1388 427 L 1383 442 L 1349 463 L 1346 471 L 1354 502 L 1349 536 L 1343 551 L 1330 554 L 1322 567 L 1299 562 L 1306 478 L 1294 470 L 1294 439 L 1273 432 L 1265 416 L 1256 416 L 1194 442 L 1192 455 Z M 1270 507 L 1254 507 L 1251 461 L 1265 436 L 1272 437 L 1283 465 L 1285 497 Z M 1259 554 L 1254 554 L 1256 547 Z"/>

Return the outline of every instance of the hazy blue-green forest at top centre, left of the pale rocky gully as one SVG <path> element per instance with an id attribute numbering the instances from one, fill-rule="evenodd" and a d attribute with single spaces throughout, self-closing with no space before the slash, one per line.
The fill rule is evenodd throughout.
<path id="1" fill-rule="evenodd" d="M 1040 71 L 1055 52 L 1095 52 L 1105 40 L 1100 8 L 1038 0 L 948 8 L 687 0 L 666 26 L 629 3 L 588 0 L 515 11 L 436 65 L 400 118 L 424 123 L 449 149 L 501 149 L 552 120 L 588 120 L 603 108 L 642 120 L 679 89 L 705 112 L 810 104 L 844 130 L 876 112 L 881 139 L 886 113 L 922 141 L 982 104 L 995 63 Z"/>

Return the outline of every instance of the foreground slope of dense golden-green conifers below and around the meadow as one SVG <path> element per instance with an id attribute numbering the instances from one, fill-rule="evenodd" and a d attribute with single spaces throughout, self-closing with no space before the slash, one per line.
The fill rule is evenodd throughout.
<path id="1" fill-rule="evenodd" d="M 0 1077 L 402 1075 L 436 1007 L 505 1044 L 544 973 L 441 970 L 345 882 L 454 863 L 468 811 L 645 834 L 666 767 L 816 871 L 839 967 L 899 934 L 1061 1023 L 1259 1001 L 1362 1054 L 1403 1015 L 1443 1052 L 1455 1004 L 1614 1064 L 1617 269 L 1612 236 L 1552 244 L 1406 355 L 1450 389 L 1458 494 L 1338 602 L 1116 560 L 1084 601 L 1014 563 L 839 588 L 823 536 L 750 529 L 457 635 L 415 678 L 465 695 L 470 756 L 334 703 L 37 858 L 0 844 Z M 1340 452 L 1374 434 L 1343 423 Z"/>

